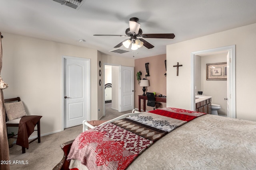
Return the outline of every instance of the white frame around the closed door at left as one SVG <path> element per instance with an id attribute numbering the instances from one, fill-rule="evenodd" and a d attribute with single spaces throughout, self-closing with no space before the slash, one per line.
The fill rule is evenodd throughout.
<path id="1" fill-rule="evenodd" d="M 65 56 L 62 55 L 62 69 L 61 69 L 61 130 L 64 130 L 64 60 L 65 59 L 73 59 L 73 60 L 83 60 L 88 61 L 88 79 L 91 81 L 91 59 L 81 58 L 81 57 L 72 57 L 72 56 Z M 88 110 L 89 110 L 89 118 L 91 119 L 91 82 L 88 83 Z"/>

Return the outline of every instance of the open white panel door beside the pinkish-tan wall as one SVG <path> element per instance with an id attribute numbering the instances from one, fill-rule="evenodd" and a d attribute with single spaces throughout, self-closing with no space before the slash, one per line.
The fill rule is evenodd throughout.
<path id="1" fill-rule="evenodd" d="M 134 67 L 120 66 L 120 93 L 118 111 L 134 109 Z"/>

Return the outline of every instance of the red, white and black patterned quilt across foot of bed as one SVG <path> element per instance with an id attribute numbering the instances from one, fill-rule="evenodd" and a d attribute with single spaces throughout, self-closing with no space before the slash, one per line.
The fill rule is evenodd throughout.
<path id="1" fill-rule="evenodd" d="M 124 170 L 155 141 L 204 114 L 168 107 L 95 127 L 74 140 L 67 160 L 89 170 Z"/>

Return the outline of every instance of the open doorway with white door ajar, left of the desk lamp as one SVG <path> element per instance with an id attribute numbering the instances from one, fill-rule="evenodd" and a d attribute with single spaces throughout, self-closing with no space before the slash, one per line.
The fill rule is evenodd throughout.
<path id="1" fill-rule="evenodd" d="M 104 64 L 103 116 L 134 109 L 134 67 Z M 111 86 L 111 87 L 110 87 Z"/>

